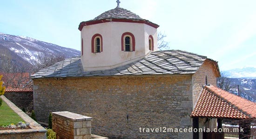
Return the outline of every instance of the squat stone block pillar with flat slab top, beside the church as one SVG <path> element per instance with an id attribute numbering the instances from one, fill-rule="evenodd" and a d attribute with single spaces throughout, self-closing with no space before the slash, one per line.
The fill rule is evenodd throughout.
<path id="1" fill-rule="evenodd" d="M 91 117 L 71 112 L 53 112 L 53 130 L 57 139 L 91 139 Z"/>

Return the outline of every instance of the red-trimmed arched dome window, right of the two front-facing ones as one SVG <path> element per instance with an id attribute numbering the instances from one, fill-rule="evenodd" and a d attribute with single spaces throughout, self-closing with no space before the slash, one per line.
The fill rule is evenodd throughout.
<path id="1" fill-rule="evenodd" d="M 130 32 L 125 32 L 121 37 L 122 51 L 135 51 L 135 37 Z"/>

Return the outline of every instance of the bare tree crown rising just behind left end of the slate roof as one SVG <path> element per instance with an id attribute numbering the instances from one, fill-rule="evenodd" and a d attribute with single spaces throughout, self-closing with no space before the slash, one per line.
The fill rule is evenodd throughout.
<path id="1" fill-rule="evenodd" d="M 37 72 L 40 69 L 47 68 L 49 66 L 52 66 L 54 63 L 58 63 L 60 61 L 63 61 L 65 57 L 63 55 L 49 55 L 49 56 L 44 56 L 44 57 L 38 57 L 38 62 L 34 64 L 33 66 L 33 71 Z"/>

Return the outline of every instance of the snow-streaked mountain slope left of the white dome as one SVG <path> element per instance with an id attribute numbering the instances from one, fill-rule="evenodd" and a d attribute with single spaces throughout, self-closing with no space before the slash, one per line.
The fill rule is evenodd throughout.
<path id="1" fill-rule="evenodd" d="M 36 40 L 34 38 L 15 36 L 0 32 L 0 62 L 11 59 L 18 66 L 34 65 L 39 57 L 64 56 L 65 58 L 78 57 L 80 51 L 61 47 Z"/>

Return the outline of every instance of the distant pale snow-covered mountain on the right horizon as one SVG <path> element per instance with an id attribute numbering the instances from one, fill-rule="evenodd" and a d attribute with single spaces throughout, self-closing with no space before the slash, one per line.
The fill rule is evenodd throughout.
<path id="1" fill-rule="evenodd" d="M 256 68 L 245 67 L 223 71 L 230 78 L 256 78 Z"/>

